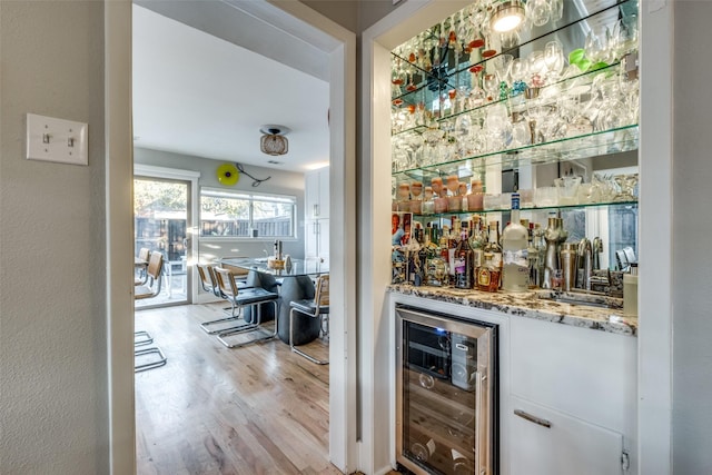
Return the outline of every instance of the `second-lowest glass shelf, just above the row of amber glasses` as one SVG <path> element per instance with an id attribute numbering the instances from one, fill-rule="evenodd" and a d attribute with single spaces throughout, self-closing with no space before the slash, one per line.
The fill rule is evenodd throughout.
<path id="1" fill-rule="evenodd" d="M 528 165 L 564 162 L 636 150 L 637 144 L 639 127 L 637 125 L 632 125 L 508 150 L 457 158 L 439 164 L 418 164 L 414 167 L 394 170 L 392 175 L 396 177 L 396 181 L 424 180 L 447 175 L 458 175 L 464 178 L 493 166 L 501 166 L 502 169 L 512 169 Z M 429 146 L 424 147 L 427 148 Z M 435 148 L 432 148 L 433 154 L 435 154 Z"/>

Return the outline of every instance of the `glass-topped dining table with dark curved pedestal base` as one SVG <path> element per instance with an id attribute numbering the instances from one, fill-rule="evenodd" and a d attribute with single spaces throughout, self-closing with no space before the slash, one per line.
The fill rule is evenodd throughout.
<path id="1" fill-rule="evenodd" d="M 247 270 L 247 286 L 260 287 L 268 291 L 276 291 L 280 297 L 277 315 L 277 334 L 284 343 L 289 343 L 289 304 L 291 301 L 314 299 L 314 279 L 322 274 L 329 273 L 329 266 L 322 259 L 290 259 L 291 265 L 284 269 L 270 267 L 267 258 L 224 258 L 220 265 L 230 270 Z M 251 309 L 246 308 L 243 318 L 255 323 Z M 274 306 L 263 304 L 260 318 L 263 321 L 273 319 Z M 295 313 L 294 344 L 304 345 L 319 336 L 322 323 L 319 318 L 312 318 Z"/>

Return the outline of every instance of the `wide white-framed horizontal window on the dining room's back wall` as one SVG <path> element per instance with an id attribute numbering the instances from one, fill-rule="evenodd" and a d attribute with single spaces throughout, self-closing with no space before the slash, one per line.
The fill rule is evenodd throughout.
<path id="1" fill-rule="evenodd" d="M 200 236 L 295 238 L 296 198 L 200 190 Z"/>

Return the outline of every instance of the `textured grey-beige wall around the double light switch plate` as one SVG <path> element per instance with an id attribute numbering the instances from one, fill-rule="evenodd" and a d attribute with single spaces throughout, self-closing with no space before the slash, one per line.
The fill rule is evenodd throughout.
<path id="1" fill-rule="evenodd" d="M 100 1 L 0 2 L 3 475 L 108 473 L 103 24 Z M 89 166 L 26 160 L 27 112 L 88 122 Z"/>

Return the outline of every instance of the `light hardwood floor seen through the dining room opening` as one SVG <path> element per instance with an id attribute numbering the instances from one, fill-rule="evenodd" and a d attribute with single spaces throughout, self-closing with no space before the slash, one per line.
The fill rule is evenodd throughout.
<path id="1" fill-rule="evenodd" d="M 338 474 L 328 366 L 279 339 L 228 349 L 200 321 L 224 304 L 136 311 L 168 364 L 136 374 L 138 474 Z M 328 356 L 320 339 L 304 349 Z"/>

